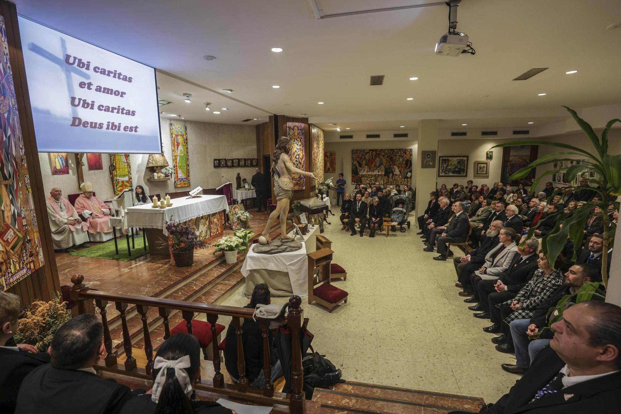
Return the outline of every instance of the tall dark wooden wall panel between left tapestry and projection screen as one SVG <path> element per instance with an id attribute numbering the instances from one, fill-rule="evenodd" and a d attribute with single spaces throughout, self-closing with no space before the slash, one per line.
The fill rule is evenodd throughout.
<path id="1" fill-rule="evenodd" d="M 45 260 L 45 265 L 35 270 L 35 272 L 9 289 L 9 292 L 19 295 L 19 297 L 22 298 L 22 302 L 28 305 L 35 300 L 50 300 L 56 292 L 60 292 L 60 282 L 58 280 L 58 269 L 52 245 L 50 222 L 47 217 L 47 208 L 45 206 L 45 189 L 43 188 L 43 179 L 41 177 L 41 168 L 39 165 L 37 140 L 35 139 L 34 124 L 32 121 L 32 108 L 30 107 L 29 91 L 26 83 L 24 56 L 22 54 L 22 42 L 19 36 L 15 4 L 6 0 L 0 0 L 0 14 L 4 16 L 4 24 L 7 31 L 9 59 L 11 60 L 13 81 L 17 97 L 17 111 L 19 113 L 20 126 L 22 129 L 22 138 L 24 140 L 24 153 L 26 162 L 28 163 L 35 214 L 37 215 L 37 223 L 39 224 L 43 260 Z"/>

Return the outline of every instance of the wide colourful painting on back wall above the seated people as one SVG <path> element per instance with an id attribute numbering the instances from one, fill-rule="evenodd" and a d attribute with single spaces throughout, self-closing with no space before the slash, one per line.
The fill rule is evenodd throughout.
<path id="1" fill-rule="evenodd" d="M 412 182 L 412 150 L 351 150 L 351 182 L 409 185 Z"/>

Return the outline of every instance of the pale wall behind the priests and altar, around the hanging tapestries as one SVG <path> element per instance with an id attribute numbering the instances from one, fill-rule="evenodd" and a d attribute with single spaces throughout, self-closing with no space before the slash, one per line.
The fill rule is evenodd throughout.
<path id="1" fill-rule="evenodd" d="M 161 137 L 164 146 L 164 154 L 168 163 L 172 165 L 172 152 L 170 142 L 170 120 L 160 119 Z M 207 122 L 187 121 L 188 126 L 188 154 L 190 167 L 190 187 L 215 188 L 222 183 L 232 181 L 241 173 L 242 178 L 250 178 L 255 172 L 253 167 L 240 168 L 214 168 L 214 158 L 256 158 L 256 130 L 252 125 L 235 124 L 212 124 Z M 43 185 L 47 194 L 52 187 L 60 187 L 63 195 L 79 193 L 78 178 L 76 173 L 75 158 L 69 155 L 69 174 L 52 175 L 52 167 L 48 153 L 39 153 L 39 160 L 43 175 Z M 146 168 L 148 154 L 132 154 L 132 184 L 142 185 L 147 193 L 173 193 L 187 190 L 188 188 L 175 188 L 172 180 L 168 182 L 148 182 L 147 178 L 152 174 L 150 168 Z M 84 180 L 93 183 L 97 197 L 101 200 L 109 200 L 114 196 L 112 182 L 109 176 L 110 159 L 108 154 L 102 154 L 103 170 L 89 171 L 86 165 L 86 156 L 83 157 Z M 225 178 L 221 176 L 224 175 Z"/>

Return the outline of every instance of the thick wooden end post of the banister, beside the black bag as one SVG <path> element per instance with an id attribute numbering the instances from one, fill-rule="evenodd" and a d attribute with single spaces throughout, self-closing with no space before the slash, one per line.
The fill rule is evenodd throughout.
<path id="1" fill-rule="evenodd" d="M 304 372 L 302 371 L 302 344 L 300 329 L 304 320 L 304 310 L 300 308 L 302 299 L 293 295 L 289 298 L 289 314 L 287 324 L 291 328 L 291 413 L 304 413 Z M 286 368 L 285 368 L 286 369 Z"/>

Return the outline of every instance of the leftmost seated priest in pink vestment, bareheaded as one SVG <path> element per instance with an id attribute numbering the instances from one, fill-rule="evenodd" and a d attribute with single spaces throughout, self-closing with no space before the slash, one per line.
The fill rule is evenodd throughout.
<path id="1" fill-rule="evenodd" d="M 69 200 L 63 198 L 63 191 L 58 187 L 52 188 L 45 203 L 54 250 L 75 252 L 76 246 L 89 247 L 88 223 L 82 221 Z"/>

